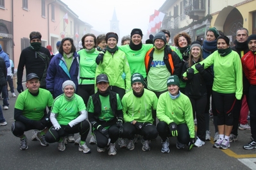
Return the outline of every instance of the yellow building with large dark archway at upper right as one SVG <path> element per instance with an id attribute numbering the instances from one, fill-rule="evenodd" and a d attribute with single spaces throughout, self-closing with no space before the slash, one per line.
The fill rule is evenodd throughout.
<path id="1" fill-rule="evenodd" d="M 213 4 L 213 3 L 212 3 Z M 245 27 L 249 31 L 249 35 L 256 34 L 256 1 L 247 0 L 230 0 L 214 1 L 212 5 L 212 20 L 211 26 L 223 31 L 224 35 L 230 38 L 230 42 L 235 40 L 235 33 L 239 27 Z M 221 9 L 221 10 L 218 10 Z"/>

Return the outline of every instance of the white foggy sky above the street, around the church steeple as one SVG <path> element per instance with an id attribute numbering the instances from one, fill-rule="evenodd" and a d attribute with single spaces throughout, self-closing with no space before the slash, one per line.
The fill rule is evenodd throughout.
<path id="1" fill-rule="evenodd" d="M 166 0 L 62 0 L 80 20 L 90 24 L 92 29 L 107 33 L 115 12 L 119 20 L 120 37 L 130 35 L 133 28 L 147 34 L 149 15 L 158 10 Z M 146 38 L 146 37 L 143 37 Z"/>

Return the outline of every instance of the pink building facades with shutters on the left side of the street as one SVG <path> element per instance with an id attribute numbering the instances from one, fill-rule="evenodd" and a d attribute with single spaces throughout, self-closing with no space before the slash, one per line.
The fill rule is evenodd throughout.
<path id="1" fill-rule="evenodd" d="M 51 45 L 56 52 L 56 42 L 64 37 L 73 38 L 78 49 L 81 37 L 92 27 L 60 0 L 1 0 L 0 15 L 0 43 L 15 68 L 21 50 L 30 46 L 32 31 L 42 34 L 43 47 Z"/>

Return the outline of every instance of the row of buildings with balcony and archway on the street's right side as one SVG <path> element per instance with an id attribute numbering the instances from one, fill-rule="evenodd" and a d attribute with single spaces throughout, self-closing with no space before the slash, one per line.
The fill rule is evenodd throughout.
<path id="1" fill-rule="evenodd" d="M 255 0 L 166 0 L 159 11 L 166 13 L 162 29 L 168 29 L 171 38 L 186 32 L 196 40 L 204 38 L 209 27 L 216 27 L 232 43 L 239 27 L 256 33 L 255 6 Z"/>

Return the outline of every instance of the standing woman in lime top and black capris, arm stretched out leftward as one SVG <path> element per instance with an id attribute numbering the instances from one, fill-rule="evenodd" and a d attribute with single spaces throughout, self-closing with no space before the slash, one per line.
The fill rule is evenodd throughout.
<path id="1" fill-rule="evenodd" d="M 243 70 L 241 59 L 237 52 L 229 47 L 227 36 L 217 38 L 217 47 L 214 53 L 200 62 L 204 68 L 213 65 L 214 82 L 212 86 L 212 100 L 218 112 L 219 139 L 214 148 L 226 150 L 230 147 L 229 136 L 233 127 L 233 107 L 235 100 L 243 95 Z M 195 68 L 193 65 L 191 68 Z M 194 69 L 194 73 L 198 70 Z M 187 77 L 187 73 L 183 73 Z"/>

